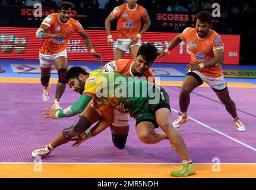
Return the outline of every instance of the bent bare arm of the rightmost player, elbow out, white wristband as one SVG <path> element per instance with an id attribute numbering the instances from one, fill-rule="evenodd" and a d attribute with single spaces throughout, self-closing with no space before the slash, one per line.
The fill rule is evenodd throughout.
<path id="1" fill-rule="evenodd" d="M 190 71 L 195 71 L 195 70 L 200 70 L 201 68 L 211 68 L 213 66 L 219 66 L 223 64 L 224 61 L 224 49 L 216 49 L 213 50 L 214 58 L 211 59 L 210 61 L 201 63 L 201 64 L 196 64 L 194 62 L 191 62 L 188 64 L 188 69 Z"/>

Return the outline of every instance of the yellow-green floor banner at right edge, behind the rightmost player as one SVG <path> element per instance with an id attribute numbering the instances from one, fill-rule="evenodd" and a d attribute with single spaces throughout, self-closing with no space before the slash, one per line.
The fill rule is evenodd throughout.
<path id="1" fill-rule="evenodd" d="M 226 78 L 256 78 L 254 70 L 228 70 L 223 69 L 223 75 Z"/>

